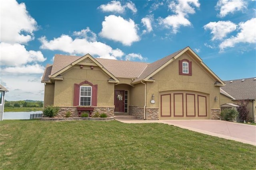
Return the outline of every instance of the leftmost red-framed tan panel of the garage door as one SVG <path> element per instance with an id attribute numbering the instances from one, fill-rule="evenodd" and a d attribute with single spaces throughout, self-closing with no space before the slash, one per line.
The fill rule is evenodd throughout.
<path id="1" fill-rule="evenodd" d="M 161 116 L 171 116 L 171 94 L 161 95 Z"/>

